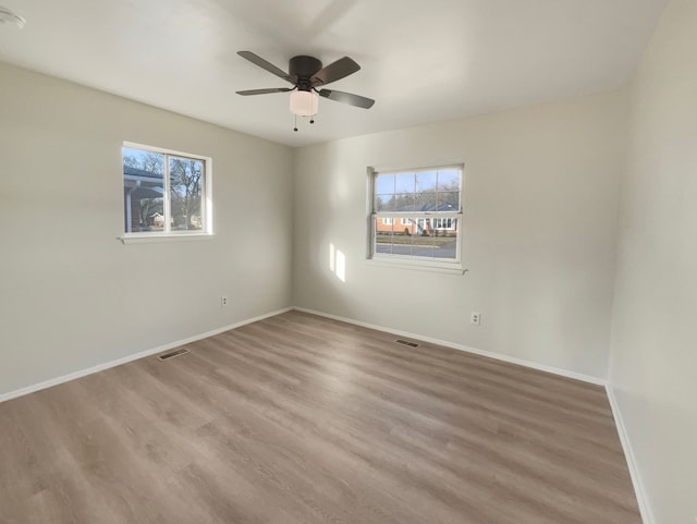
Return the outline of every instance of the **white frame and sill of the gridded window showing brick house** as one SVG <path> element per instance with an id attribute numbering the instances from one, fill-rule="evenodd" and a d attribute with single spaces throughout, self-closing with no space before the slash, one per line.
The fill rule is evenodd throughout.
<path id="1" fill-rule="evenodd" d="M 439 170 L 458 170 L 460 171 L 460 206 L 455 211 L 377 211 L 376 210 L 376 181 L 379 175 L 384 174 L 399 174 L 399 173 L 421 173 Z M 463 204 L 464 204 L 464 182 L 465 182 L 465 167 L 464 162 L 454 162 L 449 164 L 437 166 L 424 166 L 420 168 L 405 167 L 405 168 L 368 168 L 368 248 L 367 259 L 371 264 L 389 265 L 409 267 L 414 269 L 427 269 L 445 272 L 454 272 L 462 275 L 466 269 L 462 265 L 462 244 L 464 236 L 464 222 L 463 222 Z M 378 253 L 376 249 L 377 241 L 377 223 L 378 219 L 384 218 L 400 218 L 402 220 L 414 220 L 414 223 L 424 223 L 426 220 L 433 218 L 452 218 L 456 220 L 457 234 L 456 234 L 456 247 L 455 258 L 429 258 L 415 255 L 396 255 L 391 253 Z M 424 221 L 424 222 L 421 222 Z M 454 226 L 450 228 L 439 228 L 439 231 L 453 231 Z"/>

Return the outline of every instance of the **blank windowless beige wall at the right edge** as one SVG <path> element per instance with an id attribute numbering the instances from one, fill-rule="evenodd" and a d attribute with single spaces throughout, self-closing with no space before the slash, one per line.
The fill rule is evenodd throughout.
<path id="1" fill-rule="evenodd" d="M 697 519 L 697 1 L 632 83 L 610 379 L 658 524 Z"/>

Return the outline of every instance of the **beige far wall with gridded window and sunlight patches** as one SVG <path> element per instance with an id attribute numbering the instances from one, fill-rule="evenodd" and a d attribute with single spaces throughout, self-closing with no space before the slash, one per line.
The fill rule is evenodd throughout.
<path id="1" fill-rule="evenodd" d="M 625 101 L 610 93 L 297 149 L 295 305 L 604 378 Z M 366 167 L 454 160 L 469 272 L 366 261 Z"/>

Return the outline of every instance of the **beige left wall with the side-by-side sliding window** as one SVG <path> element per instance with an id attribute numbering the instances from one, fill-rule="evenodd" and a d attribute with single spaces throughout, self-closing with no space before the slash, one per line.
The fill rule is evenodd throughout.
<path id="1" fill-rule="evenodd" d="M 124 139 L 213 158 L 213 240 L 115 240 Z M 288 147 L 0 64 L 0 394 L 291 306 L 291 164 Z"/>

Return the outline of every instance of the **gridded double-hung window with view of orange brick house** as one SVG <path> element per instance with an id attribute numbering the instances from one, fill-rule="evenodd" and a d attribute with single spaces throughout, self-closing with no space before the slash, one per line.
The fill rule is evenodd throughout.
<path id="1" fill-rule="evenodd" d="M 461 269 L 463 167 L 369 175 L 370 258 Z"/>

